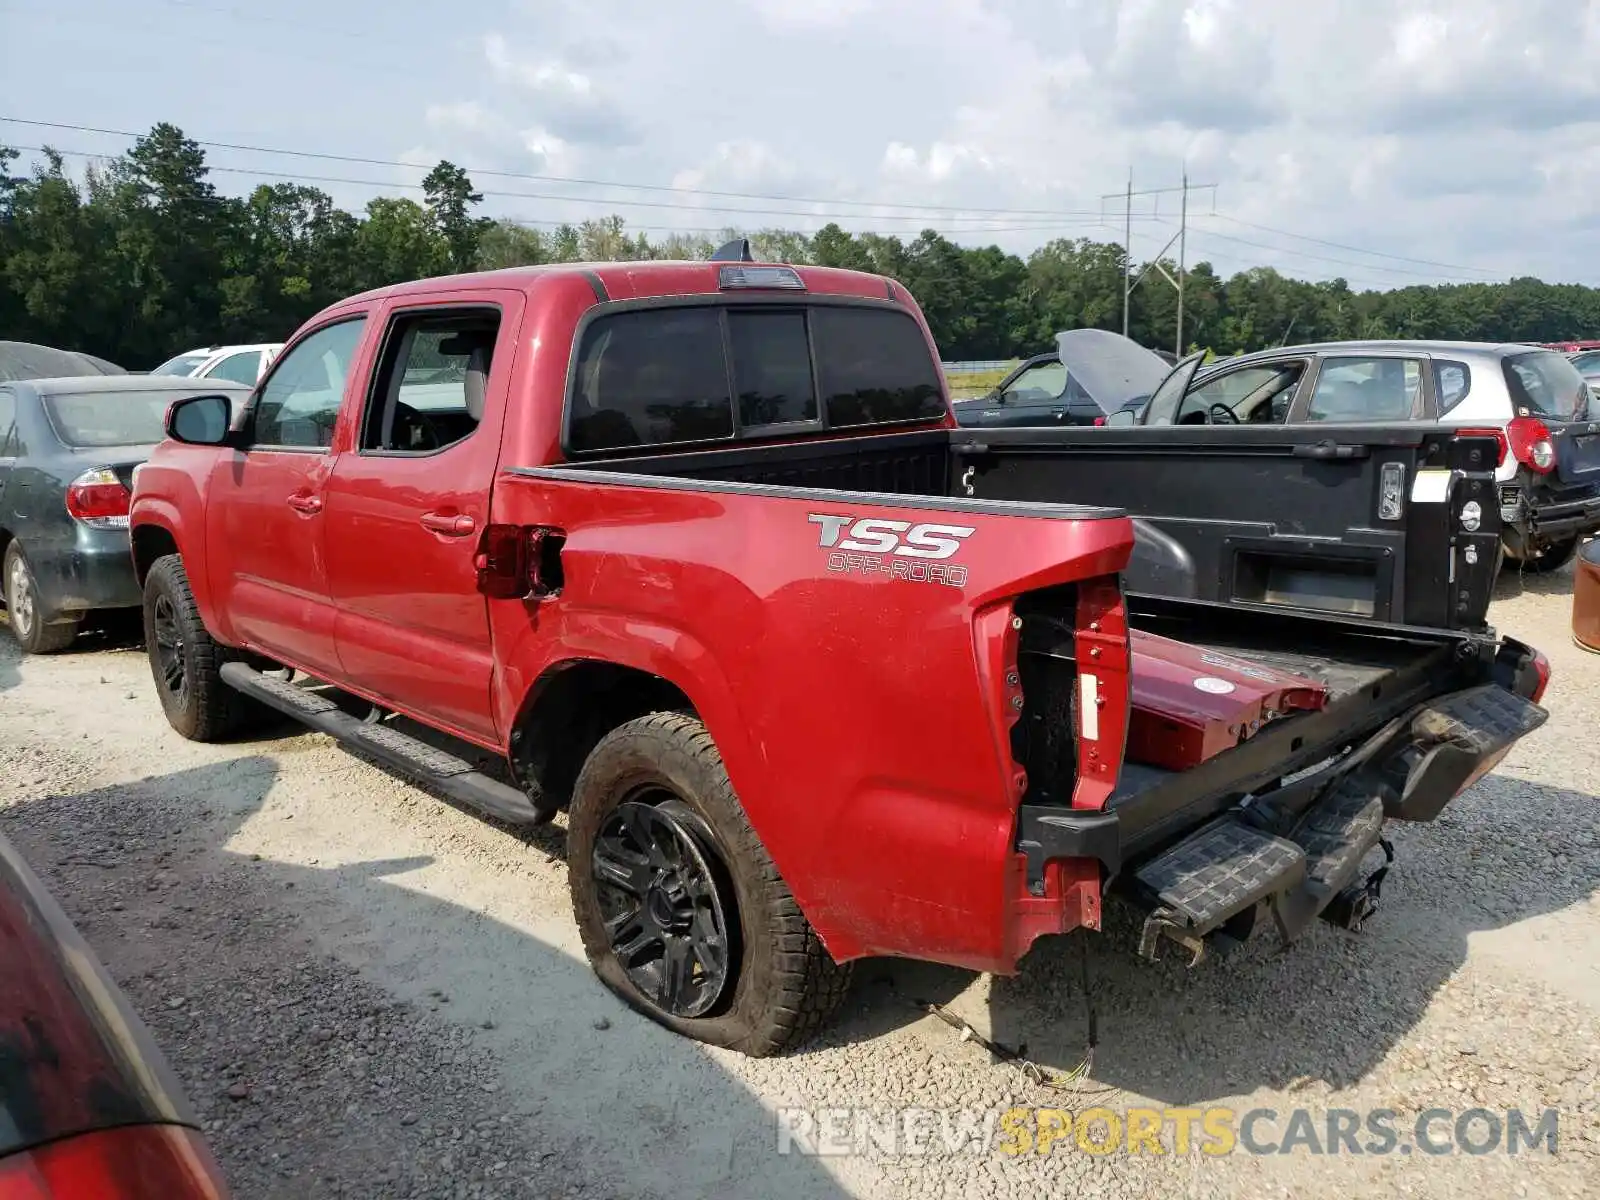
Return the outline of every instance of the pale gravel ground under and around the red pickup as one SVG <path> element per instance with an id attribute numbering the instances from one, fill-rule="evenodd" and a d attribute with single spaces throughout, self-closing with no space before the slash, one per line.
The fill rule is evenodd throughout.
<path id="1" fill-rule="evenodd" d="M 240 1197 L 1600 1194 L 1600 659 L 1571 574 L 1493 614 L 1552 658 L 1550 723 L 1432 826 L 1398 827 L 1384 910 L 1189 971 L 1106 936 L 1014 979 L 864 963 L 805 1051 L 749 1061 L 592 979 L 560 827 L 517 837 L 326 738 L 184 742 L 130 646 L 19 661 L 0 638 L 0 830 L 149 1021 Z M 912 1000 L 1070 1070 L 1045 1088 Z M 774 1109 L 1150 1104 L 1560 1110 L 1557 1152 L 1050 1157 L 778 1154 Z M 1446 1125 L 1438 1126 L 1446 1130 Z"/>

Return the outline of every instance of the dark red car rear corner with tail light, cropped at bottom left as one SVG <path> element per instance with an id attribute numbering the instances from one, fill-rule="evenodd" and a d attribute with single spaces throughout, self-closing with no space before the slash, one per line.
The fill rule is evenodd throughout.
<path id="1" fill-rule="evenodd" d="M 178 1080 L 0 835 L 0 1200 L 224 1200 Z"/>

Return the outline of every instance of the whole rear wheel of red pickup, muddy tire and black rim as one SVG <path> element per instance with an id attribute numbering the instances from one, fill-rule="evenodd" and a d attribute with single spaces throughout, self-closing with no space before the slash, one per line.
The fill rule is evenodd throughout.
<path id="1" fill-rule="evenodd" d="M 694 717 L 656 712 L 602 738 L 566 845 L 589 963 L 667 1029 L 762 1058 L 843 998 L 848 963 L 800 912 Z"/>

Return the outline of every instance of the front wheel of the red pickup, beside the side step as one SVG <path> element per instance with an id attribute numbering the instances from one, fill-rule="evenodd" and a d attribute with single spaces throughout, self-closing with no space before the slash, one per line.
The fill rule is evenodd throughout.
<path id="1" fill-rule="evenodd" d="M 222 664 L 243 654 L 206 632 L 176 554 L 157 558 L 144 578 L 144 648 L 162 710 L 184 738 L 222 741 L 261 717 L 254 701 L 222 682 Z"/>

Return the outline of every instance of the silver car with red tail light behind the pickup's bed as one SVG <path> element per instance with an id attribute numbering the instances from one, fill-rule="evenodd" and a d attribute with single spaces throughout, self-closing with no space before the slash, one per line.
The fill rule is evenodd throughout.
<path id="1" fill-rule="evenodd" d="M 1491 430 L 1499 440 L 1507 557 L 1565 566 L 1600 531 L 1600 402 L 1566 355 L 1494 342 L 1366 341 L 1285 346 L 1173 368 L 1136 413 L 1110 424 L 1394 424 Z"/>

